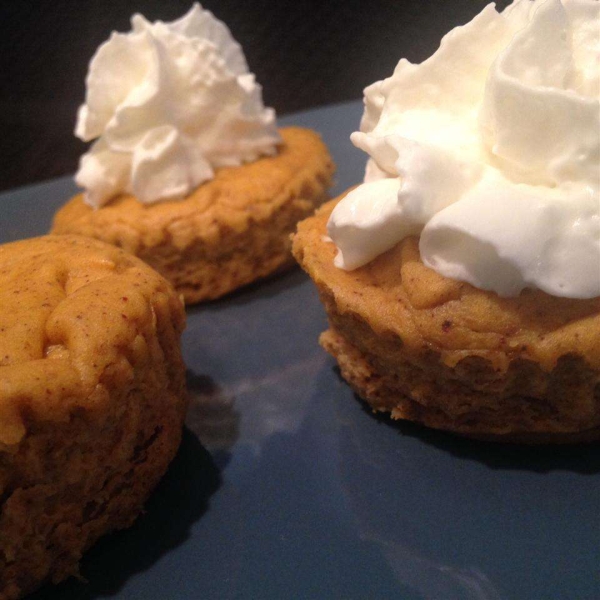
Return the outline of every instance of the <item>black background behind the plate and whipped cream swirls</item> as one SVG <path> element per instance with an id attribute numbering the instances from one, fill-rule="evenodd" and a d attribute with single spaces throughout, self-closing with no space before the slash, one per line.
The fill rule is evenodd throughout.
<path id="1" fill-rule="evenodd" d="M 421 62 L 485 0 L 207 0 L 244 48 L 268 106 L 285 114 L 362 97 L 398 60 Z M 500 2 L 505 6 L 506 1 Z M 190 0 L 3 0 L 0 3 L 0 189 L 73 173 L 87 65 L 129 18 L 171 21 Z M 357 127 L 358 124 L 354 124 Z M 348 131 L 350 133 L 350 130 Z"/>

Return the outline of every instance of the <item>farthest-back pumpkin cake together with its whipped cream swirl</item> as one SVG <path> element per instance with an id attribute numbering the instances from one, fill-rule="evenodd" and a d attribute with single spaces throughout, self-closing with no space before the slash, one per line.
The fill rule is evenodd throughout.
<path id="1" fill-rule="evenodd" d="M 113 33 L 91 61 L 76 134 L 96 140 L 76 176 L 84 192 L 52 232 L 139 256 L 186 303 L 292 266 L 290 233 L 334 171 L 318 134 L 277 129 L 241 47 L 198 4 Z"/>

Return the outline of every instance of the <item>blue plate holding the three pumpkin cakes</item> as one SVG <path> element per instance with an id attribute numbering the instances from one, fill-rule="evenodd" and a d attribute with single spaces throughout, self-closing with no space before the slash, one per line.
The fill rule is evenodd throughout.
<path id="1" fill-rule="evenodd" d="M 362 178 L 361 104 L 281 119 L 320 131 L 335 193 Z M 75 188 L 0 195 L 2 241 L 46 232 Z M 42 599 L 600 598 L 600 447 L 473 442 L 374 416 L 317 337 L 295 270 L 188 311 L 181 450 L 127 530 Z"/>

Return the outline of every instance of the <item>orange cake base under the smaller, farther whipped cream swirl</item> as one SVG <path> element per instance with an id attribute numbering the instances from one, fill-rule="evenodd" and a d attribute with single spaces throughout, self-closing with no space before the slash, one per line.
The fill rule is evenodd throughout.
<path id="1" fill-rule="evenodd" d="M 75 196 L 56 214 L 52 233 L 101 239 L 139 256 L 187 304 L 291 267 L 290 233 L 327 199 L 334 166 L 315 132 L 280 133 L 276 156 L 219 169 L 181 201 L 120 196 L 94 210 Z"/>

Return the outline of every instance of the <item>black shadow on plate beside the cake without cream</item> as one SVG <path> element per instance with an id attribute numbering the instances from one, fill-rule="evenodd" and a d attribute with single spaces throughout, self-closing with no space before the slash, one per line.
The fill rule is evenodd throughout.
<path id="1" fill-rule="evenodd" d="M 81 561 L 84 581 L 70 578 L 47 585 L 30 600 L 93 600 L 116 596 L 135 573 L 148 570 L 181 545 L 192 525 L 208 510 L 221 483 L 211 455 L 184 429 L 181 446 L 167 473 L 129 529 L 102 538 Z"/>

